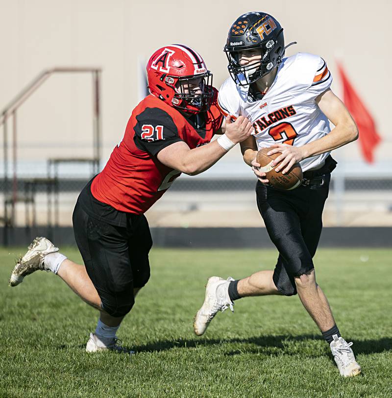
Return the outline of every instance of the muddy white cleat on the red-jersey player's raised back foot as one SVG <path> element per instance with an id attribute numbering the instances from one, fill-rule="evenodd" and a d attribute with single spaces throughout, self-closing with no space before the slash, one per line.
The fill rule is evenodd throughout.
<path id="1" fill-rule="evenodd" d="M 26 275 L 32 274 L 34 271 L 50 271 L 44 265 L 44 257 L 49 253 L 58 251 L 48 239 L 40 237 L 35 238 L 28 247 L 26 254 L 18 260 L 11 277 L 9 278 L 10 286 L 19 285 Z"/>

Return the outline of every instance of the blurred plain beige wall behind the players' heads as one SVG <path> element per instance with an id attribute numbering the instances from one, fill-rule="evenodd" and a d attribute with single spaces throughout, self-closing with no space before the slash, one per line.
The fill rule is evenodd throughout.
<path id="1" fill-rule="evenodd" d="M 194 47 L 214 73 L 227 77 L 222 52 L 227 30 L 246 11 L 265 11 L 285 29 L 287 54 L 326 59 L 340 94 L 336 60 L 374 115 L 383 142 L 377 160 L 389 159 L 392 3 L 303 1 L 0 0 L 0 109 L 42 70 L 53 66 L 102 68 L 103 160 L 122 138 L 140 97 L 140 60 L 170 43 Z M 92 153 L 92 79 L 55 75 L 18 112 L 19 156 L 24 160 Z M 230 154 L 237 156 L 237 152 Z M 337 157 L 360 159 L 357 144 Z"/>

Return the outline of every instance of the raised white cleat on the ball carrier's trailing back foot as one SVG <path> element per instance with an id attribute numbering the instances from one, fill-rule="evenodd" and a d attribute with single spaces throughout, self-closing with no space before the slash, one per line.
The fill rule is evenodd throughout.
<path id="1" fill-rule="evenodd" d="M 203 305 L 195 316 L 194 330 L 197 336 L 201 336 L 208 327 L 218 311 L 223 312 L 230 308 L 234 312 L 234 303 L 229 298 L 228 287 L 230 281 L 234 280 L 230 276 L 227 279 L 219 276 L 211 276 L 208 279 Z"/>

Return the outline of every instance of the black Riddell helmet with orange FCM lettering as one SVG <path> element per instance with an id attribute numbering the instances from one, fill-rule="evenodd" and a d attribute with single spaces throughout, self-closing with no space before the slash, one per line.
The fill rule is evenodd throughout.
<path id="1" fill-rule="evenodd" d="M 283 27 L 271 15 L 265 12 L 243 14 L 231 25 L 223 49 L 229 61 L 229 74 L 236 84 L 247 86 L 279 65 L 289 46 L 285 47 Z M 239 51 L 252 49 L 261 50 L 261 60 L 241 66 Z"/>

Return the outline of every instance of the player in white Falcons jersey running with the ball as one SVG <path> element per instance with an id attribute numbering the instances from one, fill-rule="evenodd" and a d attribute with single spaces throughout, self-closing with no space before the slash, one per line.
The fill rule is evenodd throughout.
<path id="1" fill-rule="evenodd" d="M 294 43 L 291 43 L 294 44 Z M 289 44 L 289 46 L 291 45 Z M 230 27 L 224 51 L 230 76 L 221 86 L 219 105 L 235 120 L 247 117 L 254 136 L 241 143 L 245 162 L 259 181 L 257 206 L 279 251 L 273 271 L 260 271 L 240 280 L 213 276 L 195 317 L 201 335 L 218 311 L 233 309 L 247 296 L 298 293 L 302 304 L 330 344 L 342 376 L 361 372 L 350 346 L 340 335 L 327 298 L 316 282 L 313 256 L 321 233 L 321 214 L 336 162 L 330 151 L 358 137 L 351 115 L 331 91 L 332 76 L 318 55 L 297 53 L 284 58 L 283 28 L 264 12 L 241 15 Z M 329 127 L 331 121 L 335 127 Z M 290 191 L 269 185 L 258 170 L 256 153 L 281 152 L 273 166 L 287 173 L 300 162 L 304 182 Z"/>

